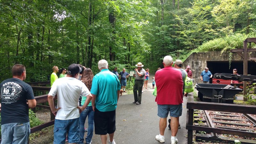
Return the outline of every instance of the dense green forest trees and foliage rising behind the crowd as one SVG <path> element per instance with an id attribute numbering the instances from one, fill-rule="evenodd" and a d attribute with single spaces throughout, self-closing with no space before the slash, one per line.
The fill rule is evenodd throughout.
<path id="1" fill-rule="evenodd" d="M 256 37 L 251 0 L 0 0 L 0 17 L 1 81 L 14 64 L 26 66 L 26 81 L 71 63 L 96 74 L 100 59 L 111 70 L 142 62 L 152 72 L 165 55 L 185 60 Z"/>

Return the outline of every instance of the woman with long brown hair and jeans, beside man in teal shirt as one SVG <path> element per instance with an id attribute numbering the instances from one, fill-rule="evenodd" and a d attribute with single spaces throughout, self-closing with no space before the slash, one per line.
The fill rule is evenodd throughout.
<path id="1" fill-rule="evenodd" d="M 81 77 L 81 81 L 86 85 L 89 91 L 92 88 L 92 78 L 93 73 L 90 68 L 85 68 Z M 86 97 L 82 97 L 81 107 L 84 105 Z M 85 119 L 88 116 L 88 132 L 87 137 L 85 138 L 85 143 L 90 144 L 92 142 L 92 134 L 93 134 L 93 125 L 94 125 L 94 111 L 92 110 L 92 101 L 88 104 L 88 106 L 84 109 L 84 111 L 80 114 L 80 140 L 78 144 L 84 144 L 84 123 Z"/>

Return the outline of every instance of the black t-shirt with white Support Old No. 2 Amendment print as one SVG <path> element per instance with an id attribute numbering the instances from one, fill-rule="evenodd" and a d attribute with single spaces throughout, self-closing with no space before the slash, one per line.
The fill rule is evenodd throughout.
<path id="1" fill-rule="evenodd" d="M 35 99 L 32 87 L 18 78 L 0 84 L 1 124 L 29 122 L 27 100 Z"/>

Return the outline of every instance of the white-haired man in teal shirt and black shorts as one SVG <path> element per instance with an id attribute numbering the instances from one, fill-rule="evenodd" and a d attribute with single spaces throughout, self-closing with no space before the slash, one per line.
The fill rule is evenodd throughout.
<path id="1" fill-rule="evenodd" d="M 100 72 L 92 79 L 92 109 L 94 111 L 95 134 L 100 134 L 102 144 L 116 144 L 114 132 L 116 131 L 116 106 L 120 95 L 120 82 L 118 77 L 108 70 L 108 62 L 98 62 Z"/>

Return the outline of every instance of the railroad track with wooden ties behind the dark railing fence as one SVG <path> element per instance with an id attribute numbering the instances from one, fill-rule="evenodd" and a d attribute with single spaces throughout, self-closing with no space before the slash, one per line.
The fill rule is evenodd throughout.
<path id="1" fill-rule="evenodd" d="M 240 137 L 236 135 L 225 135 L 220 133 L 206 133 L 196 131 L 196 141 L 211 141 L 223 143 L 235 143 L 239 140 L 241 143 L 256 144 L 256 117 L 255 115 L 217 112 L 207 110 L 194 111 L 194 125 L 222 128 L 236 131 L 253 132 L 252 137 Z M 255 135 L 254 135 L 255 133 Z"/>

